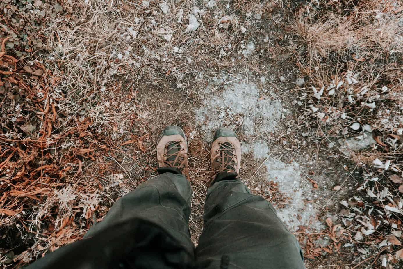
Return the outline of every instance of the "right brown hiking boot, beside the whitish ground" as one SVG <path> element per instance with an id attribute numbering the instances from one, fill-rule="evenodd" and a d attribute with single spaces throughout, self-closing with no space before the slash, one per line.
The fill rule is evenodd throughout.
<path id="1" fill-rule="evenodd" d="M 234 131 L 226 128 L 218 129 L 214 135 L 210 155 L 213 170 L 210 185 L 218 173 L 227 172 L 234 175 L 235 173 L 236 175 L 239 173 L 239 167 L 241 166 L 241 145 Z"/>

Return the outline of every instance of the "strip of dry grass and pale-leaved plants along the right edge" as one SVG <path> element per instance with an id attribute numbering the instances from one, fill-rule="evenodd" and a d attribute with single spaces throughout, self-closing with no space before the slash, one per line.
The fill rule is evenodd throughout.
<path id="1" fill-rule="evenodd" d="M 397 213 L 402 196 L 396 183 L 403 171 L 403 87 L 399 79 L 403 75 L 399 68 L 403 27 L 401 12 L 395 12 L 402 3 L 370 0 L 331 4 L 327 9 L 306 6 L 297 12 L 289 28 L 295 35 L 292 48 L 297 67 L 305 78 L 305 88 L 295 90 L 299 98 L 294 104 L 301 108 L 299 127 L 312 146 L 324 147 L 318 154 L 352 161 L 363 171 L 355 196 L 347 199 L 348 212 L 339 215 L 343 228 L 338 234 L 340 242 L 352 243 L 350 247 L 359 250 L 362 259 L 345 254 L 345 260 L 351 261 L 351 268 L 380 263 L 392 266 L 399 263 L 395 253 L 400 248 L 388 243 L 390 248 L 380 249 L 378 240 L 402 229 L 402 216 Z M 339 153 L 339 143 L 367 136 L 377 143 L 355 148 L 348 156 Z M 389 211 L 386 205 L 397 211 Z M 370 225 L 371 219 L 379 223 Z M 371 229 L 376 233 L 366 234 Z M 362 242 L 361 235 L 372 245 Z M 335 244 L 333 250 L 339 251 L 339 247 Z"/>

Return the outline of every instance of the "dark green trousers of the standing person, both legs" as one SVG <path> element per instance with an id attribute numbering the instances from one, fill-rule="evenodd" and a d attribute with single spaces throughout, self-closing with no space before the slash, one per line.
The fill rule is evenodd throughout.
<path id="1" fill-rule="evenodd" d="M 177 169 L 160 173 L 118 199 L 83 240 L 28 268 L 305 268 L 295 236 L 236 173 L 218 174 L 208 188 L 195 248 L 188 223 L 191 184 Z"/>

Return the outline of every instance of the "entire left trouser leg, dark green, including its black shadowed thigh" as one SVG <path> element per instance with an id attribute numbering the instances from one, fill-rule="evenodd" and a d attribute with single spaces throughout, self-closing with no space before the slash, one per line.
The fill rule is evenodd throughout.
<path id="1" fill-rule="evenodd" d="M 29 269 L 193 268 L 191 186 L 185 176 L 172 172 L 117 200 L 85 239 L 46 254 Z"/>

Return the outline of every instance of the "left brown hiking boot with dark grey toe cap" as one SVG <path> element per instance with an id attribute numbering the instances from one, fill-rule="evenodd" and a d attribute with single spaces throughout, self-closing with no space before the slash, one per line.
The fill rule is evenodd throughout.
<path id="1" fill-rule="evenodd" d="M 181 127 L 168 126 L 162 131 L 157 145 L 157 161 L 159 170 L 162 167 L 173 167 L 179 169 L 189 180 L 187 142 Z"/>

